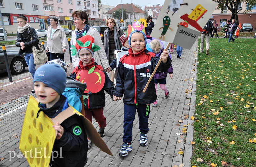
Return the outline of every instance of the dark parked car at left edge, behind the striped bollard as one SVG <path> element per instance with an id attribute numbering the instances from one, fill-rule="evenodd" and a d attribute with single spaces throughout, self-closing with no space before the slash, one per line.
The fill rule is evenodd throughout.
<path id="1" fill-rule="evenodd" d="M 21 74 L 24 72 L 25 67 L 28 67 L 25 61 L 24 54 L 18 56 L 19 51 L 17 50 L 6 50 L 8 62 L 10 65 L 11 73 L 14 75 Z M 4 60 L 4 52 L 0 49 L 0 73 L 7 72 L 5 60 Z"/>

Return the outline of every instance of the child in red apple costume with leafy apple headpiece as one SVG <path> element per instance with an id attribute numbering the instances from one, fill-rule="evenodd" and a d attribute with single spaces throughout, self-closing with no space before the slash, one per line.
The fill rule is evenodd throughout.
<path id="1" fill-rule="evenodd" d="M 94 38 L 85 35 L 76 40 L 76 45 L 72 45 L 72 52 L 76 52 L 80 58 L 79 65 L 70 75 L 72 78 L 86 83 L 87 88 L 83 93 L 85 117 L 92 122 L 92 117 L 99 124 L 100 136 L 104 134 L 106 127 L 106 118 L 103 115 L 103 107 L 105 106 L 105 92 L 113 96 L 114 86 L 103 68 L 94 62 L 93 54 L 100 49 L 94 44 Z M 92 146 L 92 142 L 88 140 L 88 149 Z"/>

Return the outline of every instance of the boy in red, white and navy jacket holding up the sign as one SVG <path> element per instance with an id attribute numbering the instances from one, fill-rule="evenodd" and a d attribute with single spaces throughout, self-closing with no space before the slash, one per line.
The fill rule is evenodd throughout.
<path id="1" fill-rule="evenodd" d="M 124 94 L 124 144 L 120 148 L 120 156 L 126 156 L 132 150 L 132 124 L 136 110 L 139 116 L 140 146 L 148 144 L 149 104 L 157 99 L 154 80 L 151 80 L 145 93 L 142 91 L 154 71 L 159 57 L 155 57 L 155 53 L 146 50 L 147 38 L 142 31 L 132 31 L 128 42 L 131 48 L 119 62 L 116 89 L 113 94 L 115 101 L 121 100 Z M 172 65 L 168 51 L 163 52 L 160 57 L 162 62 L 158 70 L 165 72 Z"/>

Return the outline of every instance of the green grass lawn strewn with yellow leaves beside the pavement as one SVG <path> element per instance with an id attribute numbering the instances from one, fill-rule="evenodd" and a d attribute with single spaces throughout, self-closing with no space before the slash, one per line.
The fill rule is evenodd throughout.
<path id="1" fill-rule="evenodd" d="M 210 55 L 198 53 L 191 161 L 196 167 L 222 166 L 221 161 L 256 166 L 256 140 L 249 142 L 256 139 L 256 40 L 227 41 L 210 39 Z"/>

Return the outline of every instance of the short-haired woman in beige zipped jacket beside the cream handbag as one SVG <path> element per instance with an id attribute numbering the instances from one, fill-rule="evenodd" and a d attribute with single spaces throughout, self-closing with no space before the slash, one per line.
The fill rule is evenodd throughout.
<path id="1" fill-rule="evenodd" d="M 46 46 L 46 52 L 50 52 L 50 60 L 58 58 L 64 60 L 64 54 L 68 47 L 65 31 L 58 21 L 57 17 L 50 17 L 51 25 L 48 27 Z"/>

